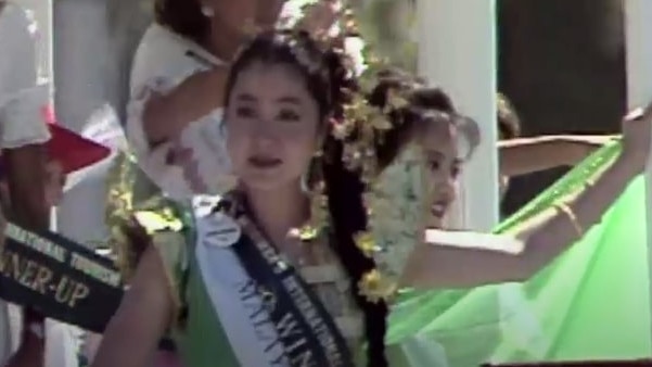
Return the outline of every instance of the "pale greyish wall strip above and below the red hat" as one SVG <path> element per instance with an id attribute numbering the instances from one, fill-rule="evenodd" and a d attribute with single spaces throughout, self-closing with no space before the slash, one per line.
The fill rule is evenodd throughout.
<path id="1" fill-rule="evenodd" d="M 63 125 L 79 131 L 90 114 L 105 103 L 104 2 L 56 0 L 53 17 L 56 113 Z M 59 230 L 78 241 L 104 238 L 105 190 L 102 179 L 91 179 L 66 193 L 59 208 Z"/>

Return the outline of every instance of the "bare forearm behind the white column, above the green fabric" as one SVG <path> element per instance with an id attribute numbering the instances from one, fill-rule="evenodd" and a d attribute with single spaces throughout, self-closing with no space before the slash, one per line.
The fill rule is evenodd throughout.
<path id="1" fill-rule="evenodd" d="M 613 136 L 551 135 L 498 142 L 500 174 L 526 175 L 544 169 L 573 166 Z"/>

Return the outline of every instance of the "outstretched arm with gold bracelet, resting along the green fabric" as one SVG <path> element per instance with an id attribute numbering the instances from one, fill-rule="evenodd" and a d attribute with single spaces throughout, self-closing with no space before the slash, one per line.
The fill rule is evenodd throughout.
<path id="1" fill-rule="evenodd" d="M 519 255 L 488 250 L 420 244 L 404 274 L 406 286 L 419 288 L 475 287 L 529 278 L 599 223 L 602 214 L 645 166 L 650 147 L 652 107 L 627 116 L 623 151 L 592 185 L 560 208 L 548 210 L 523 224 L 516 235 L 525 249 Z"/>

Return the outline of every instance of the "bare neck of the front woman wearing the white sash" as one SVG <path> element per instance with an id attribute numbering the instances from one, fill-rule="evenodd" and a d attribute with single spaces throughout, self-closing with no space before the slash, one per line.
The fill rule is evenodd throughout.
<path id="1" fill-rule="evenodd" d="M 309 218 L 309 201 L 298 185 L 273 192 L 245 188 L 245 193 L 253 218 L 277 246 L 283 245 L 292 228 L 303 226 Z"/>

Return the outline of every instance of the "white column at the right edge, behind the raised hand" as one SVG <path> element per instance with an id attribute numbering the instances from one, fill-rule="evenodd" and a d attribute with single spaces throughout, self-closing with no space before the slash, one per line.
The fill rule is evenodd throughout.
<path id="1" fill-rule="evenodd" d="M 627 50 L 627 105 L 644 106 L 652 101 L 652 1 L 627 0 L 625 7 L 625 36 Z M 652 165 L 645 170 L 648 203 L 648 267 L 652 280 Z M 652 284 L 652 281 L 651 281 Z M 652 287 L 652 286 L 651 286 Z M 652 327 L 652 325 L 651 325 Z"/>

